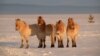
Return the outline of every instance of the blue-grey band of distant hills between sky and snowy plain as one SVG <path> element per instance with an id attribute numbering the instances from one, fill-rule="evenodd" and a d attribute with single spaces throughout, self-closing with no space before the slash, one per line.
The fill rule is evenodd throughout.
<path id="1" fill-rule="evenodd" d="M 0 5 L 0 14 L 87 14 L 87 13 L 88 14 L 100 13 L 100 7 Z"/>

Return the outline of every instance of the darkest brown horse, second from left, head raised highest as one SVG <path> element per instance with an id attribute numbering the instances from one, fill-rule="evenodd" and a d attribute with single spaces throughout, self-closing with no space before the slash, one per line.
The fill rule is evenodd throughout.
<path id="1" fill-rule="evenodd" d="M 55 31 L 55 27 L 53 24 L 46 24 L 45 20 L 43 19 L 42 16 L 38 17 L 37 20 L 37 24 L 39 26 L 41 35 L 38 34 L 38 39 L 39 39 L 39 47 L 42 47 L 42 42 L 44 42 L 44 47 L 45 45 L 45 38 L 46 36 L 50 36 L 51 37 L 51 47 L 54 47 L 54 43 L 55 43 L 55 38 L 54 38 L 54 31 Z M 43 38 L 43 39 L 41 39 Z"/>

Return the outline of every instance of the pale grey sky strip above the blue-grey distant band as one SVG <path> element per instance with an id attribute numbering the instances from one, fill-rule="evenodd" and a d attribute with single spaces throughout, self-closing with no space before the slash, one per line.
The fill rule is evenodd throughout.
<path id="1" fill-rule="evenodd" d="M 100 0 L 0 0 L 0 4 L 100 6 Z"/>

